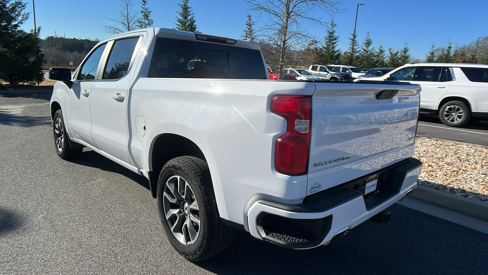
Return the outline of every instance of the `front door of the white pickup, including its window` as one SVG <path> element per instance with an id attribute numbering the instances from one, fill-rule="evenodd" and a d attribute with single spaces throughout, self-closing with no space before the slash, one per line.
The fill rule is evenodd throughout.
<path id="1" fill-rule="evenodd" d="M 93 50 L 78 70 L 76 80 L 71 90 L 66 93 L 63 115 L 64 123 L 71 138 L 82 140 L 92 146 L 95 142 L 91 138 L 90 97 L 91 88 L 95 82 L 97 72 L 101 67 L 101 60 L 105 46 L 103 44 Z"/>

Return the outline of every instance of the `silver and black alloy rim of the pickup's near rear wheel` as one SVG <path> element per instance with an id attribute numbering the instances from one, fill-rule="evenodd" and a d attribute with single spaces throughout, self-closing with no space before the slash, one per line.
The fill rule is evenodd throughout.
<path id="1" fill-rule="evenodd" d="M 176 239 L 191 245 L 200 233 L 200 207 L 188 182 L 180 176 L 166 181 L 163 191 L 166 222 Z"/>

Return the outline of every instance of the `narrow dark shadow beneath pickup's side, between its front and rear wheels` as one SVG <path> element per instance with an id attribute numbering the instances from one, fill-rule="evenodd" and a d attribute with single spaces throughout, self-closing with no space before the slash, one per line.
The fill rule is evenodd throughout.
<path id="1" fill-rule="evenodd" d="M 88 167 L 94 167 L 98 168 L 103 171 L 108 171 L 108 172 L 114 172 L 117 174 L 120 174 L 126 178 L 131 179 L 132 181 L 139 183 L 142 187 L 146 188 L 149 190 L 149 181 L 144 178 L 143 176 L 140 176 L 129 169 L 123 167 L 120 164 L 115 163 L 112 160 L 109 160 L 102 155 L 96 153 L 95 151 L 89 150 L 89 149 L 84 149 L 83 153 L 79 158 L 75 159 L 70 159 L 67 161 L 88 166 Z"/>

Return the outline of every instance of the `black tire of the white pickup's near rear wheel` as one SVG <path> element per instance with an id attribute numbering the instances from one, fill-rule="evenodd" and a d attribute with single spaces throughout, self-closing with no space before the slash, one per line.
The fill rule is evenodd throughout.
<path id="1" fill-rule="evenodd" d="M 181 181 L 184 181 L 184 183 L 181 183 Z M 176 184 L 176 182 L 180 186 L 178 189 L 174 189 L 176 188 L 174 186 L 172 188 L 169 187 L 171 184 Z M 181 193 L 183 191 L 181 189 L 182 185 L 184 185 L 184 194 Z M 188 191 L 186 186 L 190 187 L 189 191 L 191 192 Z M 174 191 L 171 192 L 171 190 Z M 174 195 L 175 191 L 180 197 Z M 186 194 L 187 192 L 191 193 L 192 196 Z M 180 200 L 178 198 L 182 202 L 178 202 Z M 174 199 L 174 202 L 170 202 L 171 199 Z M 166 162 L 158 179 L 157 200 L 159 215 L 166 237 L 175 250 L 186 259 L 195 262 L 203 261 L 224 251 L 230 245 L 234 230 L 230 226 L 225 225 L 220 219 L 210 171 L 204 160 L 183 156 Z M 195 202 L 198 210 L 191 209 Z M 168 211 L 171 218 L 166 218 L 165 207 L 174 211 L 180 207 L 180 210 L 178 210 L 179 214 Z M 198 225 L 190 218 L 191 215 L 195 216 L 195 213 L 198 213 Z M 180 219 L 184 220 L 180 222 Z M 190 225 L 187 225 L 187 222 L 191 223 L 191 227 L 194 229 L 193 233 L 198 227 L 195 240 L 192 239 L 191 233 L 189 233 Z M 171 230 L 170 224 L 173 225 L 176 231 L 181 230 L 181 232 Z M 179 225 L 182 225 L 182 229 L 179 229 Z M 184 229 L 185 225 L 186 230 Z"/>

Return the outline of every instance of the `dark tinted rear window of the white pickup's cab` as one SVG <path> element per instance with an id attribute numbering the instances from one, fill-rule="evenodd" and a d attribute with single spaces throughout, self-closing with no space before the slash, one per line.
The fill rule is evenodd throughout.
<path id="1" fill-rule="evenodd" d="M 260 50 L 156 38 L 147 77 L 265 79 Z"/>

